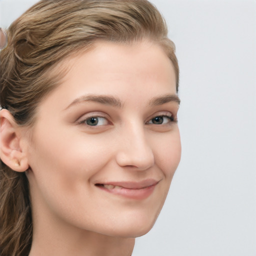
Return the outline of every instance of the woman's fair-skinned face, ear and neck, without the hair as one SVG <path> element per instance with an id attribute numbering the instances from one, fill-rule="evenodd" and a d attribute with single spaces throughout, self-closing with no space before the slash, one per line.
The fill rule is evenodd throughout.
<path id="1" fill-rule="evenodd" d="M 12 149 L 2 160 L 16 171 L 29 167 L 29 256 L 131 255 L 180 160 L 172 63 L 142 41 L 98 42 L 61 65 L 68 72 L 29 130 L 1 110 L 2 134 L 15 134 L 4 140 Z"/>

